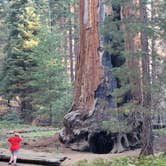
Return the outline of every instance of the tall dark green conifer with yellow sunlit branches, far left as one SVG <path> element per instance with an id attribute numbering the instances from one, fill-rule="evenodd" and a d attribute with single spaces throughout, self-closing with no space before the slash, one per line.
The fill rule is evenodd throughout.
<path id="1" fill-rule="evenodd" d="M 36 91 L 31 85 L 37 63 L 32 57 L 32 48 L 38 45 L 36 37 L 40 23 L 30 0 L 10 2 L 6 23 L 9 37 L 5 48 L 5 61 L 1 77 L 3 94 L 8 100 L 17 96 L 22 115 L 30 120 L 32 109 L 30 94 Z"/>

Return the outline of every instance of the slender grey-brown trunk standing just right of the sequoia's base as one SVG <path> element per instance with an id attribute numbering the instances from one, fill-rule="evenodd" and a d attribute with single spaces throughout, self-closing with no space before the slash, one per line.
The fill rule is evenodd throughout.
<path id="1" fill-rule="evenodd" d="M 147 6 L 146 0 L 140 0 L 140 16 L 143 25 L 147 25 Z M 142 56 L 142 82 L 143 82 L 143 101 L 142 105 L 146 110 L 143 113 L 143 131 L 142 131 L 142 147 L 140 156 L 153 154 L 153 135 L 151 120 L 151 95 L 150 95 L 150 63 L 148 36 L 145 32 L 141 32 L 141 49 Z"/>

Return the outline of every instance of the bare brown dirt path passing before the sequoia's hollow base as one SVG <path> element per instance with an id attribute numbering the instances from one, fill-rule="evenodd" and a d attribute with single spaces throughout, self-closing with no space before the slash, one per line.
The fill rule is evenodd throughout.
<path id="1" fill-rule="evenodd" d="M 57 148 L 53 143 L 50 144 L 50 142 L 54 142 Z M 42 145 L 46 145 L 46 147 L 42 147 Z M 51 149 L 49 149 L 49 146 L 51 145 Z M 38 146 L 36 149 L 39 151 L 45 151 L 46 149 L 50 152 L 56 153 L 57 155 L 62 155 L 67 157 L 65 161 L 63 161 L 62 165 L 64 166 L 70 166 L 80 160 L 94 160 L 95 158 L 113 158 L 113 157 L 122 157 L 122 156 L 138 156 L 140 150 L 133 150 L 133 151 L 126 151 L 119 154 L 93 154 L 88 152 L 76 152 L 72 151 L 69 148 L 66 148 L 63 144 L 61 144 L 58 140 L 58 135 L 52 138 L 52 140 L 47 141 L 46 139 L 40 139 L 34 143 L 29 144 L 25 148 L 34 148 L 35 146 Z M 39 148 L 40 147 L 40 148 Z M 34 150 L 36 150 L 34 149 Z"/>

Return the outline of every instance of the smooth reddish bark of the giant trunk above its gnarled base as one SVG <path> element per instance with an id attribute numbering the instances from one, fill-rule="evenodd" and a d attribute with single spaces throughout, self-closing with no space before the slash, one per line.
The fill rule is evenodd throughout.
<path id="1" fill-rule="evenodd" d="M 80 109 L 90 111 L 94 102 L 94 92 L 103 78 L 98 53 L 98 0 L 87 1 L 87 8 L 85 3 L 83 0 L 79 1 L 79 54 L 72 111 Z"/>

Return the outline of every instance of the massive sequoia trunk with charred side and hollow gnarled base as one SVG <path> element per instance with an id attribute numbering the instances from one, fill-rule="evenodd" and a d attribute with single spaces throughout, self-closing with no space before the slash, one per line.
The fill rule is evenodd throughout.
<path id="1" fill-rule="evenodd" d="M 111 94 L 117 87 L 112 67 L 121 66 L 124 60 L 120 55 L 104 51 L 102 39 L 109 36 L 102 36 L 99 26 L 112 10 L 117 10 L 120 19 L 120 9 L 120 6 L 106 8 L 102 0 L 79 1 L 80 37 L 74 99 L 60 133 L 60 140 L 75 150 L 116 153 L 139 145 L 139 126 L 126 132 L 107 132 L 102 126 L 103 121 L 115 118 L 108 111 L 117 106 Z"/>

